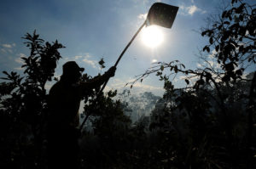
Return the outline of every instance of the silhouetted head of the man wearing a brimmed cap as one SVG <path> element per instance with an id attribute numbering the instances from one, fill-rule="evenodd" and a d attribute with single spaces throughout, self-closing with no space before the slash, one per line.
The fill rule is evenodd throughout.
<path id="1" fill-rule="evenodd" d="M 68 61 L 62 66 L 62 70 L 61 78 L 65 78 L 69 82 L 78 82 L 84 68 L 79 67 L 75 61 Z"/>

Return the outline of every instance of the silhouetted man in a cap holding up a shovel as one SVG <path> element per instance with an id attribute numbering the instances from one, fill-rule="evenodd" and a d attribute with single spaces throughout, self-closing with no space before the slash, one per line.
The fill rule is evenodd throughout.
<path id="1" fill-rule="evenodd" d="M 81 72 L 74 61 L 63 65 L 61 80 L 49 90 L 48 159 L 49 168 L 78 168 L 79 106 L 86 90 L 99 87 L 116 68 L 90 82 L 79 82 Z"/>

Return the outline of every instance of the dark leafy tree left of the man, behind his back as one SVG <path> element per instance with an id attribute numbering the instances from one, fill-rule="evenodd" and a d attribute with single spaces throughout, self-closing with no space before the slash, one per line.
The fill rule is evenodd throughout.
<path id="1" fill-rule="evenodd" d="M 36 31 L 22 38 L 31 51 L 28 57 L 21 58 L 24 76 L 3 71 L 6 77 L 2 79 L 6 82 L 0 84 L 1 146 L 7 147 L 7 152 L 1 151 L 5 159 L 3 168 L 36 167 L 42 162 L 42 132 L 47 112 L 45 84 L 52 80 L 61 59 L 58 49 L 64 48 L 58 41 L 44 43 Z"/>

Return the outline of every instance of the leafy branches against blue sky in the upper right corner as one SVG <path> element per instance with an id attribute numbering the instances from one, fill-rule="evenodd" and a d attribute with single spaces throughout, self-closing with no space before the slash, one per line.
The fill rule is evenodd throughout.
<path id="1" fill-rule="evenodd" d="M 255 64 L 255 27 L 256 9 L 247 3 L 235 3 L 233 8 L 224 10 L 220 20 L 212 23 L 212 27 L 204 29 L 202 36 L 209 37 L 209 45 L 203 51 L 210 52 L 214 48 L 217 52 L 218 63 L 222 64 L 225 74 L 222 80 L 230 82 L 241 78 L 244 62 Z"/>

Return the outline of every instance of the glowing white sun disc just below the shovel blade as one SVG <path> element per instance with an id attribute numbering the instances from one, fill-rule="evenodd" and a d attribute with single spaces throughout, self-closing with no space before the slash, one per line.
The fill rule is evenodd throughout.
<path id="1" fill-rule="evenodd" d="M 150 48 L 156 48 L 160 45 L 161 42 L 163 42 L 164 37 L 162 31 L 160 31 L 159 26 L 150 25 L 143 29 L 142 40 L 146 46 Z"/>

